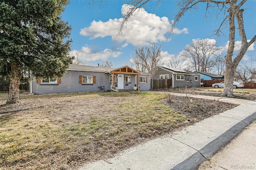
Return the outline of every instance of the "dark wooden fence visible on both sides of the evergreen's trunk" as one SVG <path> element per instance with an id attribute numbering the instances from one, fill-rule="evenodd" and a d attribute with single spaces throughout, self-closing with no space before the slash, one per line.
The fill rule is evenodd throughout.
<path id="1" fill-rule="evenodd" d="M 6 79 L 0 77 L 0 93 L 8 93 L 9 82 Z M 25 78 L 20 81 L 20 91 L 29 91 L 29 79 Z"/>

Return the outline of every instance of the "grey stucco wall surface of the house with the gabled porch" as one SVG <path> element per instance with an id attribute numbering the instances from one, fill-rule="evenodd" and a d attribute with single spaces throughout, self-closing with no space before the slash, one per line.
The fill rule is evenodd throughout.
<path id="1" fill-rule="evenodd" d="M 80 84 L 80 75 L 92 75 L 96 78 L 95 84 Z M 126 74 L 124 74 L 126 76 Z M 131 76 L 131 83 L 124 81 L 124 89 L 132 90 L 135 84 L 135 75 Z M 140 83 L 140 90 L 150 90 L 150 76 L 147 76 L 147 83 Z M 74 92 L 96 92 L 96 91 L 109 91 L 112 83 L 109 81 L 110 74 L 102 72 L 88 72 L 88 71 L 68 71 L 64 77 L 61 78 L 60 84 L 47 84 L 36 83 L 36 78 L 32 80 L 32 93 L 35 94 L 48 94 L 48 93 L 74 93 Z M 114 83 L 115 85 L 116 83 Z M 103 87 L 101 89 L 100 87 Z"/>

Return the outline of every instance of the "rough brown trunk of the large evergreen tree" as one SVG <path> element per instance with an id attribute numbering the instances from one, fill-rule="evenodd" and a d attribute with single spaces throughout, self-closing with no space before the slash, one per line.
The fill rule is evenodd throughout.
<path id="1" fill-rule="evenodd" d="M 19 101 L 19 91 L 20 91 L 20 77 L 19 77 L 19 65 L 15 65 L 11 63 L 11 74 L 9 75 L 10 78 L 10 86 L 9 86 L 9 93 L 7 104 L 18 103 Z"/>

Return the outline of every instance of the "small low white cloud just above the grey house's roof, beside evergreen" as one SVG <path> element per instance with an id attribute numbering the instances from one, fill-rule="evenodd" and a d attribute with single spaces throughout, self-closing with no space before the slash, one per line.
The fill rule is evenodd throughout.
<path id="1" fill-rule="evenodd" d="M 70 51 L 70 56 L 79 55 L 81 61 L 96 61 L 98 59 L 107 60 L 109 57 L 118 57 L 120 55 L 120 51 L 112 51 L 111 49 L 104 49 L 103 51 L 95 51 L 93 52 L 89 47 L 82 47 L 80 51 L 73 50 Z"/>

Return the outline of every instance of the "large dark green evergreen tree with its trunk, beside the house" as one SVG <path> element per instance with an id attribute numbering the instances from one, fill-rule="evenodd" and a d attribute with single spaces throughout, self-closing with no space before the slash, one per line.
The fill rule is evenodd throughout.
<path id="1" fill-rule="evenodd" d="M 68 4 L 69 0 L 0 0 L 0 76 L 10 81 L 7 103 L 18 102 L 24 75 L 52 78 L 66 72 L 72 61 L 67 39 L 71 26 L 61 13 Z"/>

